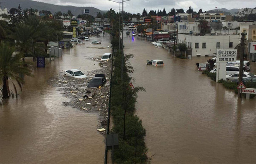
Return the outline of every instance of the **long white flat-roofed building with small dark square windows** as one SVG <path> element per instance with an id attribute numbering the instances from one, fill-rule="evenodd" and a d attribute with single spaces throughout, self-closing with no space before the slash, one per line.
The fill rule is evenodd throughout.
<path id="1" fill-rule="evenodd" d="M 192 56 L 213 56 L 217 49 L 234 49 L 240 43 L 239 35 L 195 36 L 178 34 L 178 43 L 192 49 Z"/>

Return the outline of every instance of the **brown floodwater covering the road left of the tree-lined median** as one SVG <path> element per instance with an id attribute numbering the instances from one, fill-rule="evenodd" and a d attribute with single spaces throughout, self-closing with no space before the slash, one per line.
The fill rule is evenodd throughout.
<path id="1" fill-rule="evenodd" d="M 102 44 L 89 44 L 93 40 Z M 18 99 L 0 106 L 0 163 L 2 164 L 99 164 L 104 163 L 104 136 L 97 132 L 99 115 L 64 107 L 63 97 L 47 80 L 67 69 L 83 73 L 100 69 L 91 57 L 111 52 L 110 37 L 90 37 L 85 45 L 64 50 L 62 57 L 46 60 L 46 68 L 37 68 Z M 31 59 L 26 59 L 31 60 Z"/>

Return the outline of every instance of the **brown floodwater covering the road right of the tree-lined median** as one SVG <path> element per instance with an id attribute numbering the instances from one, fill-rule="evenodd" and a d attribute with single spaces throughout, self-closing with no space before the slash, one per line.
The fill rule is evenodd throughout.
<path id="1" fill-rule="evenodd" d="M 197 71 L 191 60 L 173 58 L 142 38 L 124 37 L 125 54 L 135 72 L 138 94 L 136 114 L 147 134 L 152 164 L 255 164 L 256 99 L 238 99 L 233 90 Z M 146 65 L 159 59 L 164 67 Z M 251 62 L 256 73 L 256 63 Z"/>

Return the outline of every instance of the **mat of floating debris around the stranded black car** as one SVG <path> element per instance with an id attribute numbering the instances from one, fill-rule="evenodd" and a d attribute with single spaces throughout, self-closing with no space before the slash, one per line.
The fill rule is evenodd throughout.
<path id="1" fill-rule="evenodd" d="M 70 99 L 70 101 L 64 101 L 63 106 L 71 106 L 84 112 L 98 113 L 101 122 L 101 127 L 98 127 L 98 129 L 107 129 L 111 60 L 105 62 L 99 61 L 99 65 L 101 67 L 100 69 L 84 73 L 87 75 L 86 78 L 72 78 L 64 76 L 64 72 L 60 72 L 54 77 L 51 77 L 48 80 L 48 84 L 51 84 L 52 87 L 57 87 L 57 90 L 61 92 L 63 97 Z M 87 85 L 95 74 L 105 74 L 106 83 L 100 88 L 88 88 Z M 88 91 L 91 94 L 88 94 Z M 85 95 L 89 95 L 89 97 Z M 106 134 L 106 132 L 103 131 L 102 134 Z"/>

